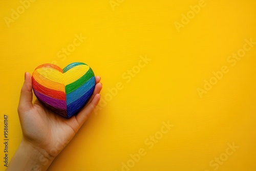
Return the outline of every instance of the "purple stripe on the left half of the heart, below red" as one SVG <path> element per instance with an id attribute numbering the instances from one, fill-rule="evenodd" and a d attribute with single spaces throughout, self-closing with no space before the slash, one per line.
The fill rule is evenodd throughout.
<path id="1" fill-rule="evenodd" d="M 67 110 L 67 104 L 65 100 L 59 100 L 59 99 L 54 99 L 49 96 L 46 96 L 44 94 L 41 94 L 37 92 L 36 90 L 33 90 L 36 97 L 40 99 L 40 101 L 44 101 L 45 103 L 53 106 L 54 108 L 60 109 L 60 110 Z"/>

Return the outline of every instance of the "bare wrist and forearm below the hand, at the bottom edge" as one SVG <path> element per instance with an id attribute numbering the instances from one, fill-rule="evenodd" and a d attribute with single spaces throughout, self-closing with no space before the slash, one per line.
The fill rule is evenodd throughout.
<path id="1" fill-rule="evenodd" d="M 44 171 L 54 160 L 46 151 L 22 140 L 7 167 L 8 171 Z"/>

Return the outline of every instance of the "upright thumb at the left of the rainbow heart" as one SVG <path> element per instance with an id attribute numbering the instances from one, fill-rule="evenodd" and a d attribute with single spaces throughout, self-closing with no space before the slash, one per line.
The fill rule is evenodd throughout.
<path id="1" fill-rule="evenodd" d="M 32 104 L 33 94 L 32 94 L 32 78 L 31 75 L 26 72 L 25 73 L 25 81 L 22 87 L 22 91 L 20 91 L 19 104 L 18 104 L 18 113 L 23 113 L 29 111 Z"/>

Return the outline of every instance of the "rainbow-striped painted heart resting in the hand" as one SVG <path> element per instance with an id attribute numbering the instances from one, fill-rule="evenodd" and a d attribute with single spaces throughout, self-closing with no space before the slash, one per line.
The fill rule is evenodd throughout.
<path id="1" fill-rule="evenodd" d="M 95 88 L 93 70 L 74 62 L 63 70 L 47 63 L 32 74 L 32 87 L 37 99 L 54 113 L 70 118 L 89 100 Z"/>

